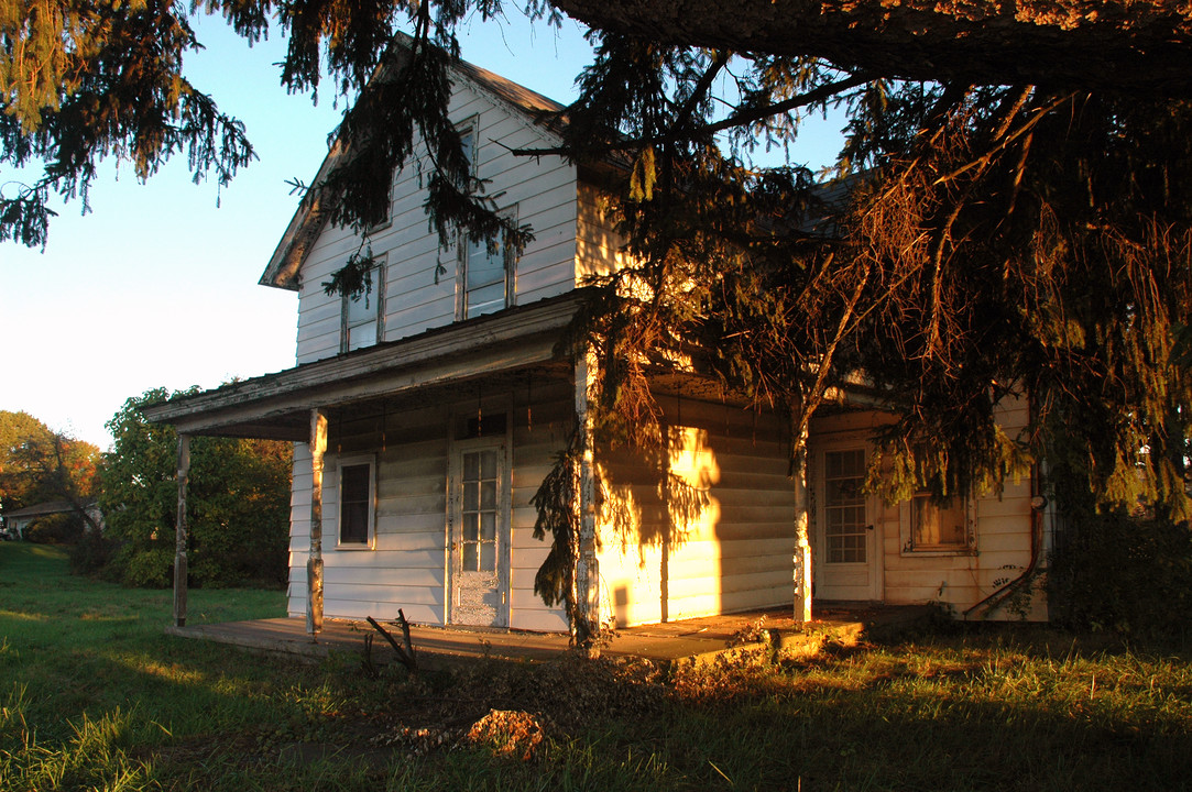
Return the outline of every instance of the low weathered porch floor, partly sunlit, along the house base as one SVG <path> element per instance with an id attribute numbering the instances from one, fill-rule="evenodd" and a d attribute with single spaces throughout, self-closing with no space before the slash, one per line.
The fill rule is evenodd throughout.
<path id="1" fill-rule="evenodd" d="M 726 653 L 765 646 L 813 654 L 826 642 L 852 644 L 864 637 L 887 636 L 925 624 L 935 612 L 925 605 L 830 603 L 820 605 L 818 618 L 806 625 L 791 618 L 789 607 L 706 616 L 622 628 L 601 648 L 601 654 L 677 663 L 706 663 Z M 389 623 L 383 626 L 401 640 L 401 630 L 396 626 Z M 364 636 L 375 635 L 367 622 L 327 619 L 323 630 L 311 638 L 303 618 L 172 625 L 166 632 L 311 660 L 321 660 L 333 651 L 362 653 Z M 567 651 L 567 636 L 557 632 L 411 625 L 410 641 L 423 667 L 480 657 L 536 662 Z M 374 662 L 389 662 L 393 657 L 380 636 L 373 642 L 372 654 Z"/>

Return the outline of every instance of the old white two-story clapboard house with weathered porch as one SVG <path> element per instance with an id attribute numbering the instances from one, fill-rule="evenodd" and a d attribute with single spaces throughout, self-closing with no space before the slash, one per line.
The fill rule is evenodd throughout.
<path id="1" fill-rule="evenodd" d="M 329 297 L 322 283 L 360 238 L 299 208 L 261 279 L 298 294 L 297 364 L 145 410 L 184 435 L 294 441 L 288 610 L 311 629 L 319 612 L 392 618 L 399 607 L 423 624 L 569 628 L 534 593 L 550 545 L 533 537 L 530 499 L 586 414 L 591 372 L 557 342 L 577 285 L 617 266 L 617 239 L 584 173 L 511 154 L 558 145 L 535 111 L 559 105 L 466 63 L 453 76 L 451 114 L 478 176 L 533 227 L 524 252 L 442 249 L 408 167 L 389 222 L 370 235 L 372 288 Z M 1031 481 L 950 510 L 865 494 L 868 438 L 882 420 L 871 410 L 822 412 L 803 488 L 788 475 L 777 417 L 694 380 L 659 382 L 658 398 L 670 472 L 699 503 L 666 501 L 634 460 L 584 461 L 581 598 L 594 620 L 790 605 L 800 515 L 819 600 L 983 612 L 1043 557 Z M 1025 410 L 1005 423 L 1025 424 Z"/>

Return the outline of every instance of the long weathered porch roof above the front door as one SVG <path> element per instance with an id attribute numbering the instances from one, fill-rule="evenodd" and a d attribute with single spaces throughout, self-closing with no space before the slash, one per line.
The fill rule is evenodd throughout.
<path id="1" fill-rule="evenodd" d="M 563 361 L 583 289 L 142 407 L 179 432 L 306 441 L 310 411 L 433 392 Z"/>

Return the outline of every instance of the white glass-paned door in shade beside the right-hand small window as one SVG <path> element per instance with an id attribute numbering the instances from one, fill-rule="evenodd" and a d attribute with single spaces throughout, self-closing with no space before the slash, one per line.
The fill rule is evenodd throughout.
<path id="1" fill-rule="evenodd" d="M 830 447 L 815 455 L 812 584 L 818 599 L 881 598 L 877 529 L 864 491 L 868 463 L 864 447 Z"/>

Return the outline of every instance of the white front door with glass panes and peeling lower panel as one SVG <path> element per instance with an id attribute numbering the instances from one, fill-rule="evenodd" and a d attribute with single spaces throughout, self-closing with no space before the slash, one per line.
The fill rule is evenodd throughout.
<path id="1" fill-rule="evenodd" d="M 448 568 L 452 624 L 509 624 L 509 485 L 503 441 L 452 454 Z"/>

